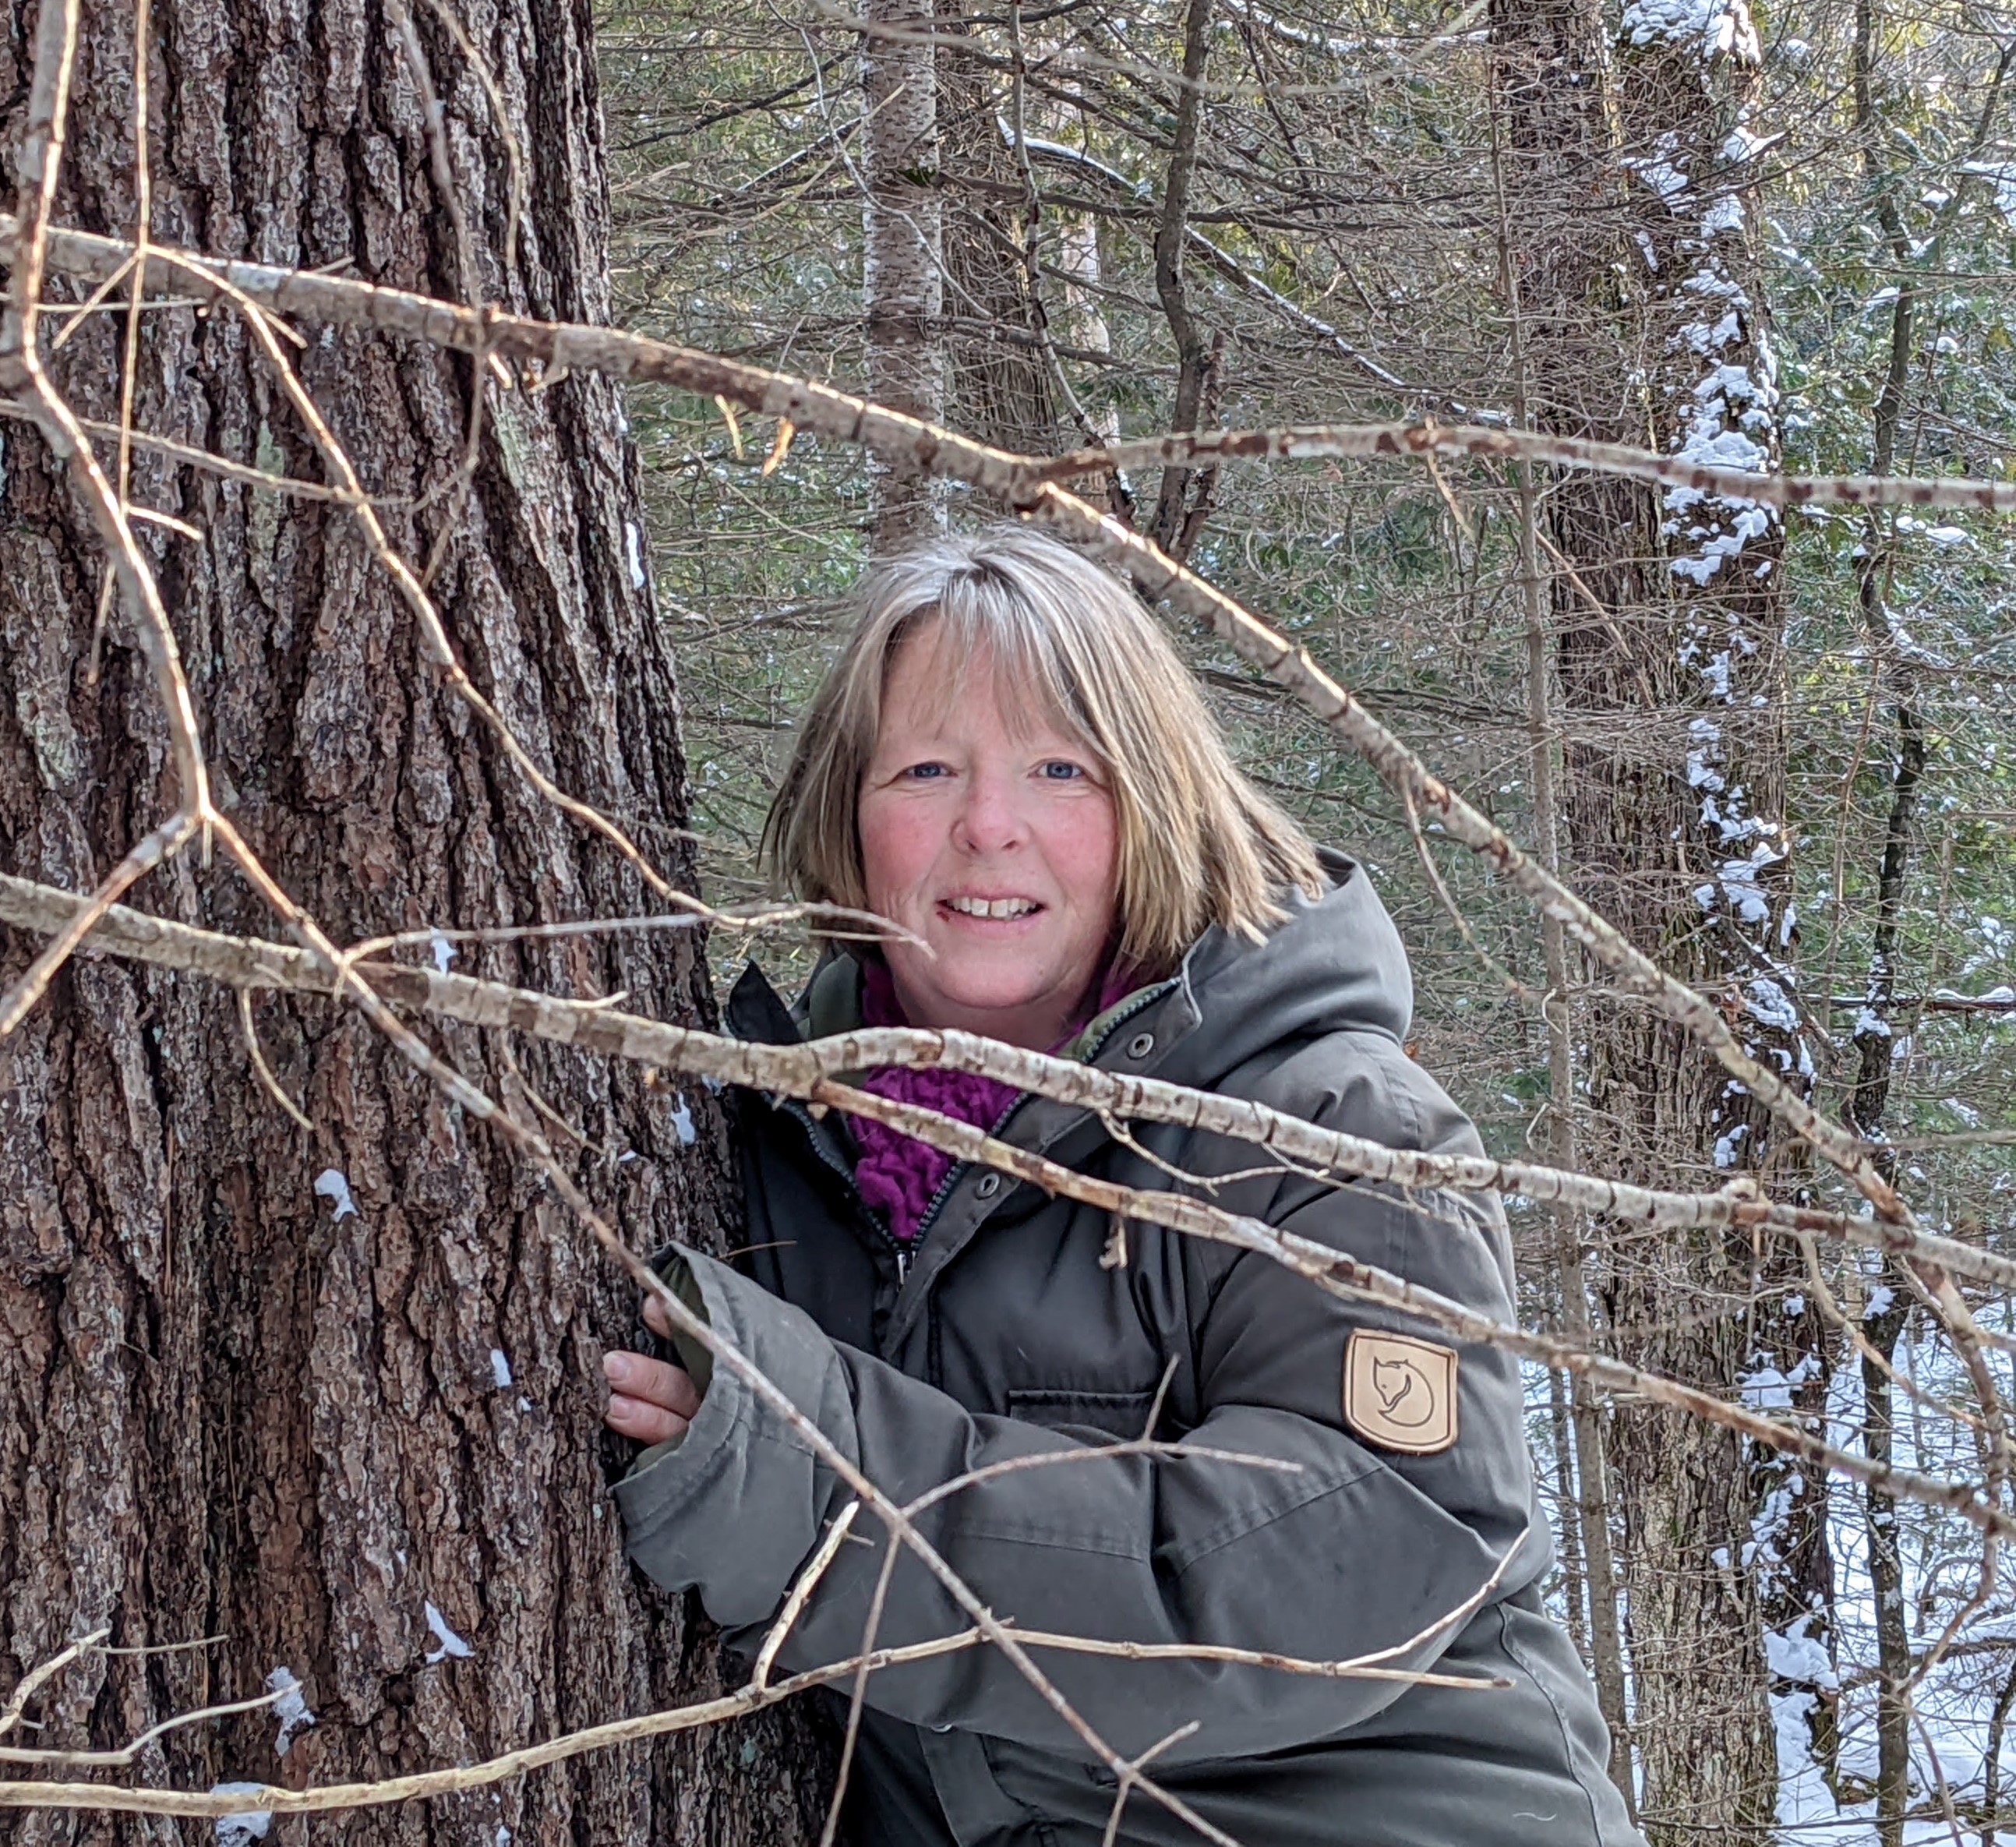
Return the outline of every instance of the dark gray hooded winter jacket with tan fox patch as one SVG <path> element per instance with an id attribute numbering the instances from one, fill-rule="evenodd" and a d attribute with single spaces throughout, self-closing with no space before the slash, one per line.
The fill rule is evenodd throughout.
<path id="1" fill-rule="evenodd" d="M 1252 1097 L 1401 1147 L 1476 1151 L 1476 1131 L 1401 1049 L 1411 982 L 1365 875 L 1296 899 L 1264 944 L 1206 934 L 1179 974 L 1129 996 L 1079 1051 L 1119 1073 Z M 786 1040 L 851 1024 L 857 968 L 831 960 L 796 1012 L 760 974 L 730 1020 Z M 1101 1264 L 1105 1214 L 984 1167 L 954 1167 L 915 1262 L 853 1190 L 835 1117 L 740 1099 L 748 1242 L 683 1252 L 712 1323 L 899 1502 L 988 1464 L 1143 1434 L 1292 1464 L 1119 1456 L 1032 1466 L 921 1516 L 986 1605 L 1022 1629 L 1218 1643 L 1304 1659 L 1389 1649 L 1456 1609 L 1514 1553 L 1490 1601 L 1399 1666 L 1502 1676 L 1500 1690 L 1337 1680 L 1210 1659 L 1044 1653 L 1070 1704 L 1133 1756 L 1198 1720 L 1155 1776 L 1250 1847 L 1381 1843 L 1625 1847 L 1603 1724 L 1581 1661 L 1540 1611 L 1550 1551 L 1534 1502 L 1518 1367 L 1488 1347 L 1345 1303 L 1264 1256 L 1131 1226 Z M 1327 1186 L 1244 1143 L 1022 1099 L 998 1131 L 1083 1172 L 1210 1194 L 1500 1319 L 1514 1315 L 1496 1200 Z M 619 1486 L 631 1555 L 698 1587 L 754 1649 L 827 1522 L 837 1478 L 714 1369 L 683 1444 Z M 885 1534 L 857 1530 L 780 1672 L 863 1645 Z M 879 1643 L 970 1627 L 911 1555 Z M 879 1672 L 867 1690 L 855 1837 L 873 1847 L 1093 1847 L 1113 1776 L 996 1649 Z M 1127 1843 L 1195 1833 L 1135 1793 Z"/>

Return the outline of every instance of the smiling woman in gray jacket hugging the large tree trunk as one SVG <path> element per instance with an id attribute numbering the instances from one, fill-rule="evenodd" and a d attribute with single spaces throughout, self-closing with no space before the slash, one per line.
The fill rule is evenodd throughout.
<path id="1" fill-rule="evenodd" d="M 1365 873 L 1246 782 L 1137 599 L 1032 530 L 869 577 L 768 843 L 800 897 L 907 938 L 833 950 L 794 1008 L 752 968 L 730 1006 L 746 1038 L 964 1026 L 1399 1147 L 1478 1149 L 1401 1049 L 1407 962 Z M 972 1077 L 865 1083 L 1123 1186 L 1198 1176 L 1230 1212 L 1514 1313 L 1494 1200 L 1325 1184 L 1169 1125 L 1121 1139 Z M 1125 1264 L 1101 1262 L 1115 1228 L 1089 1206 L 879 1123 L 736 1101 L 750 1250 L 673 1252 L 667 1274 L 895 1500 L 1139 1438 L 1151 1413 L 1157 1438 L 1216 1452 L 1000 1470 L 937 1502 L 923 1532 L 998 1617 L 1349 1659 L 1486 1593 L 1395 1664 L 1504 1682 L 1482 1690 L 1042 1651 L 1107 1744 L 1163 1744 L 1155 1780 L 1250 1847 L 1635 1839 L 1581 1664 L 1540 1611 L 1548 1541 L 1504 1353 L 1155 1226 L 1125 1226 Z M 609 1424 L 651 1446 L 617 1496 L 637 1563 L 754 1647 L 849 1494 L 738 1377 L 685 1359 L 609 1355 Z M 861 1649 L 885 1545 L 839 1547 L 780 1666 Z M 877 1643 L 966 1627 L 899 1557 Z M 1093 1847 L 1113 1789 L 998 1649 L 869 1680 L 857 1841 Z M 1135 1795 L 1121 1839 L 1195 1831 Z"/>

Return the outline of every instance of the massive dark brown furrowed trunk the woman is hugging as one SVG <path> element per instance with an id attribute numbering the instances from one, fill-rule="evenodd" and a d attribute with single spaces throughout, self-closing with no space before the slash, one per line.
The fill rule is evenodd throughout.
<path id="1" fill-rule="evenodd" d="M 476 274 L 399 32 L 343 0 L 157 0 L 153 234 L 605 319 L 587 14 L 456 10 L 522 153 L 516 250 L 506 135 L 454 40 L 415 8 Z M 0 36 L 10 161 L 32 26 L 16 8 Z M 83 34 L 58 218 L 127 236 L 133 8 L 87 6 Z M 4 177 L 12 190 L 18 173 Z M 85 415 L 117 417 L 123 321 L 89 317 L 50 361 Z M 464 359 L 341 331 L 310 331 L 298 363 L 387 496 L 393 542 L 413 559 L 442 546 L 433 591 L 474 682 L 564 788 L 689 881 L 673 661 L 615 389 L 506 391 Z M 135 419 L 321 478 L 230 313 L 145 315 Z M 165 726 L 119 611 L 93 680 L 101 548 L 38 438 L 14 423 L 4 442 L 0 865 L 89 889 L 175 805 Z M 145 448 L 133 500 L 202 534 L 141 528 L 218 801 L 337 942 L 647 907 L 635 871 L 542 803 L 448 692 L 343 508 Z M 222 857 L 192 851 L 133 901 L 276 934 Z M 0 980 L 30 954 L 0 934 Z M 579 996 L 625 988 L 667 1018 L 708 1010 L 685 934 L 466 946 L 458 968 Z M 117 1744 L 286 1668 L 314 1726 L 284 1758 L 260 1712 L 173 1732 L 135 1770 L 194 1789 L 327 1782 L 468 1762 L 712 1690 L 710 1639 L 625 1565 L 605 1492 L 623 1458 L 599 1430 L 599 1357 L 631 1337 L 633 1292 L 536 1176 L 355 1014 L 280 996 L 254 1014 L 312 1135 L 254 1081 L 232 996 L 194 980 L 79 960 L 0 1040 L 0 1688 L 97 1625 L 121 1647 L 216 1637 L 79 1661 L 30 1706 L 34 1740 Z M 581 1182 L 639 1248 L 720 1238 L 724 1139 L 706 1095 L 655 1099 L 631 1071 L 536 1042 L 506 1051 L 462 1028 L 431 1042 L 516 1109 L 536 1089 L 573 1123 Z M 770 1718 L 335 1827 L 355 1847 L 492 1847 L 506 1829 L 518 1847 L 790 1841 L 806 1782 L 796 1728 Z M 208 1841 L 212 1825 L 26 1815 L 0 1833 Z M 306 1839 L 304 1821 L 270 1835 Z"/>

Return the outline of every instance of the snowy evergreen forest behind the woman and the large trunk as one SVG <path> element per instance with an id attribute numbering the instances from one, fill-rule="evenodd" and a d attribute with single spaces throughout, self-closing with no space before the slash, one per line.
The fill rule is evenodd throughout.
<path id="1" fill-rule="evenodd" d="M 849 28 L 831 8 L 607 14 L 627 325 L 847 383 L 889 367 L 877 345 L 891 337 L 877 339 L 877 302 L 863 298 L 863 236 L 877 230 L 863 202 L 877 155 L 885 169 L 907 161 L 875 145 L 889 105 L 863 101 Z M 1044 452 L 1171 427 L 1433 415 L 1792 472 L 2010 472 L 2016 16 L 1998 8 L 1091 0 L 893 10 L 885 34 L 885 58 L 935 60 L 935 141 L 919 163 L 937 173 L 941 212 L 941 272 L 921 306 L 929 409 L 990 442 Z M 1508 73 L 1512 58 L 1530 63 Z M 1522 79 L 1607 87 L 1605 135 L 1536 147 Z M 913 151 L 915 125 L 899 133 Z M 1718 242 L 1734 246 L 1720 262 Z M 1661 405 L 1661 389 L 1679 405 Z M 633 419 L 653 569 L 685 625 L 710 889 L 754 891 L 780 744 L 885 518 L 877 482 L 857 452 L 816 442 L 778 462 L 768 432 L 738 434 L 691 399 L 647 393 Z M 1570 883 L 1599 909 L 1635 915 L 1649 928 L 1639 940 L 1706 976 L 1732 1016 L 1802 1046 L 1814 1099 L 1899 1149 L 1927 1224 L 2008 1236 L 2008 522 L 1804 508 L 1704 567 L 1718 528 L 1702 532 L 1685 494 L 1649 518 L 1629 504 L 1607 520 L 1585 512 L 1591 530 L 1540 488 L 1542 552 L 1524 563 L 1520 482 L 1504 468 L 1228 466 L 1175 484 L 1175 516 L 1167 476 L 1129 488 L 1143 528 L 1268 611 L 1516 839 L 1566 831 Z M 962 494 L 939 516 L 990 512 Z M 1562 552 L 1591 585 L 1601 573 L 1603 607 Z M 1754 643 L 1716 599 L 1738 573 L 1770 575 L 1774 607 L 1746 615 L 1762 619 L 1766 649 L 1772 627 L 1782 639 L 1782 661 L 1748 678 Z M 1637 657 L 1635 684 L 1599 686 L 1587 655 Z M 1415 964 L 1411 1051 L 1494 1153 L 1579 1147 L 1603 1172 L 1685 1188 L 1776 1165 L 1774 1186 L 1841 1194 L 1786 1174 L 1788 1149 L 1754 1161 L 1712 1091 L 1675 1111 L 1647 1105 L 1653 1081 L 1625 1065 L 1655 1057 L 1643 1040 L 1605 1044 L 1601 1026 L 1591 1038 L 1570 1024 L 1562 1091 L 1536 1000 L 1560 996 L 1574 1022 L 1593 994 L 1581 972 L 1566 986 L 1550 972 L 1530 907 L 1472 855 L 1429 847 L 1437 891 L 1405 809 L 1363 762 L 1228 649 L 1195 647 L 1195 663 L 1248 768 L 1371 865 Z M 1778 823 L 1764 855 L 1718 760 L 1732 702 L 1768 702 L 1762 742 L 1746 742 L 1762 796 L 1748 813 Z M 1663 790 L 1633 780 L 1619 794 L 1597 764 L 1617 756 L 1641 756 L 1625 778 Z M 1609 813 L 1566 827 L 1536 809 L 1572 807 L 1585 778 L 1605 784 L 1581 790 L 1587 807 Z M 1647 837 L 1677 839 L 1681 825 L 1679 871 L 1659 889 Z M 1768 871 L 1740 865 L 1752 857 Z M 1728 926 L 1764 901 L 1770 926 L 1746 942 L 1689 942 L 1736 936 Z M 1833 1288 L 1911 1381 L 1895 1413 L 1883 1369 L 1865 1369 L 1796 1266 L 1710 1280 L 1697 1258 L 1617 1232 L 1564 1260 L 1554 1216 L 1514 1204 L 1514 1224 L 1530 1321 L 1593 1323 L 1627 1351 L 1659 1349 L 1633 1317 L 1693 1323 L 1681 1369 L 1762 1409 L 1796 1405 L 1855 1448 L 1881 1444 L 1895 1415 L 1899 1460 L 1962 1466 L 1968 1438 L 1913 1395 L 1966 1395 L 1962 1369 L 1881 1266 Z M 1589 1236 L 1566 1230 L 1570 1244 Z M 1702 1325 L 1722 1343 L 1699 1339 Z M 1659 1351 L 1671 1361 L 1685 1341 Z M 1627 1440 L 1605 1476 L 1587 1444 L 1615 1446 L 1609 1426 L 1633 1413 L 1597 1399 L 1577 1422 L 1560 1377 L 1538 1369 L 1532 1391 L 1558 1607 L 1599 1674 L 1621 1682 L 1609 1708 L 1637 1738 L 1655 1839 L 1762 1837 L 1768 1821 L 1784 1839 L 1865 1839 L 1885 1770 L 1885 1839 L 1905 1813 L 1923 1817 L 1913 1833 L 1947 1835 L 1941 1776 L 1968 1829 L 1994 1835 L 2016 1694 L 2008 1581 L 1927 1661 L 1976 1589 L 1974 1547 L 1905 1514 L 1889 1571 L 1871 1557 L 1881 1510 L 1839 1484 L 1822 1510 L 1798 1478 L 1804 1496 L 1750 1482 L 1724 1504 L 1697 1482 L 1691 1504 L 1673 1494 L 1677 1516 L 1661 1500 L 1661 1524 L 1619 1498 L 1714 1464 L 1657 1440 L 1633 1456 Z M 1699 1583 L 1631 1597 L 1673 1575 Z M 1899 1670 L 1911 1738 L 1883 1750 L 1879 1734 L 1903 1730 L 1901 1710 L 1879 1714 Z M 1667 1686 L 1635 1732 L 1639 1678 Z M 1708 1760 L 1736 1768 L 1718 1778 Z"/>

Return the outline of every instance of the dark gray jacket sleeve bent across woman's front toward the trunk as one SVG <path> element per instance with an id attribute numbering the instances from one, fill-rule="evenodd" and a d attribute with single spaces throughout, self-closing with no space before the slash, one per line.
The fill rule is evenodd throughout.
<path id="1" fill-rule="evenodd" d="M 1310 1113 L 1403 1145 L 1476 1145 L 1454 1105 L 1397 1049 Z M 1266 1216 L 1284 1230 L 1510 1315 L 1496 1200 L 1403 1200 L 1294 1180 L 1278 1188 L 1272 1208 Z M 1415 1337 L 1433 1329 L 1327 1295 L 1260 1254 L 1214 1246 L 1212 1256 L 1216 1295 L 1193 1333 L 1204 1415 L 1183 1446 L 1288 1468 L 1089 1456 L 1087 1444 L 1060 1432 L 966 1411 L 931 1385 L 829 1341 L 800 1311 L 724 1264 L 691 1262 L 714 1325 L 897 1502 L 972 1470 L 1026 1464 L 917 1518 L 994 1615 L 1020 1629 L 1343 1661 L 1403 1643 L 1456 1611 L 1522 1541 L 1544 1561 L 1544 1534 L 1528 1534 L 1520 1379 L 1506 1355 L 1460 1349 L 1452 1448 L 1381 1452 L 1345 1422 L 1345 1345 L 1353 1329 Z M 698 1587 L 744 1647 L 756 1645 L 851 1498 L 724 1365 L 685 1444 L 617 1492 L 637 1563 L 663 1585 Z M 861 1649 L 887 1534 L 873 1518 L 857 1518 L 855 1532 L 863 1541 L 839 1549 L 780 1651 L 784 1668 L 843 1661 Z M 1520 1565 L 1506 1589 L 1538 1569 L 1536 1561 Z M 903 1553 L 877 1645 L 968 1627 L 946 1589 Z M 1427 1668 L 1460 1629 L 1450 1623 L 1385 1666 Z M 1405 1690 L 1393 1680 L 1212 1659 L 1143 1664 L 1056 1649 L 1036 1657 L 1121 1752 L 1141 1752 L 1200 1718 L 1202 1730 L 1159 1762 L 1306 1744 L 1361 1724 Z M 879 1672 L 867 1698 L 913 1724 L 1087 1756 L 1083 1740 L 992 1647 Z"/>

